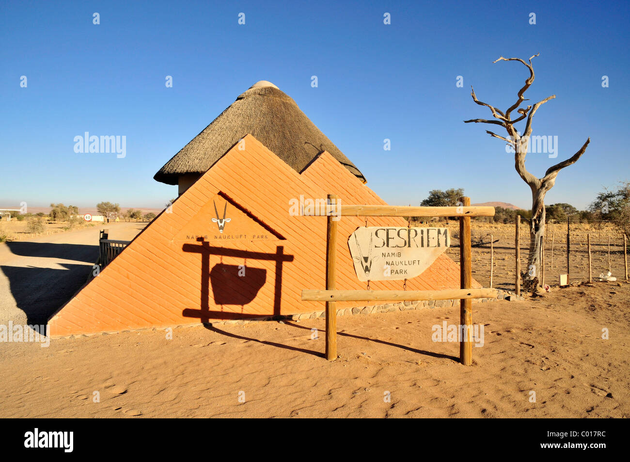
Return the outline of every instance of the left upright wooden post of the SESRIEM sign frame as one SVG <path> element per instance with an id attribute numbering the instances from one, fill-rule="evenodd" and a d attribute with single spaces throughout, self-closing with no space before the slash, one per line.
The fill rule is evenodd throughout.
<path id="1" fill-rule="evenodd" d="M 328 195 L 328 204 L 331 204 L 331 210 L 326 217 L 328 229 L 326 231 L 326 290 L 334 291 L 336 289 L 336 273 L 337 273 L 337 219 L 333 216 L 332 204 L 335 204 L 335 215 L 338 213 L 336 208 L 337 196 L 335 194 Z M 337 359 L 337 311 L 336 302 L 326 302 L 326 359 L 334 361 Z"/>

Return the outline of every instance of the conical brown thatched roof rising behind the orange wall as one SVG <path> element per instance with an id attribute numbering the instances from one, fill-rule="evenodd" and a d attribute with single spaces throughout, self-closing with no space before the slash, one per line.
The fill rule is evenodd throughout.
<path id="1" fill-rule="evenodd" d="M 239 95 L 153 178 L 176 185 L 180 175 L 204 173 L 246 134 L 252 134 L 296 171 L 304 170 L 321 151 L 328 151 L 365 182 L 358 168 L 306 117 L 295 101 L 267 81 L 260 81 Z"/>

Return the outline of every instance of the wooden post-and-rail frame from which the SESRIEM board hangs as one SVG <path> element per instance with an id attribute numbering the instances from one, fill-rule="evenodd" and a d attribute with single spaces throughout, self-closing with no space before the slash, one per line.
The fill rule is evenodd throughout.
<path id="1" fill-rule="evenodd" d="M 328 195 L 328 207 L 326 215 L 328 216 L 328 232 L 326 233 L 326 289 L 311 289 L 302 291 L 303 301 L 325 301 L 326 302 L 326 359 L 333 361 L 337 357 L 337 340 L 336 340 L 336 311 L 335 301 L 412 301 L 412 300 L 447 300 L 447 299 L 459 299 L 460 300 L 460 324 L 462 330 L 462 338 L 460 342 L 460 360 L 462 364 L 471 366 L 473 364 L 472 358 L 472 346 L 473 346 L 473 320 L 472 320 L 472 306 L 471 299 L 473 298 L 486 298 L 496 297 L 498 293 L 496 289 L 471 289 L 471 283 L 473 280 L 471 272 L 471 229 L 470 229 L 470 217 L 474 216 L 487 216 L 491 217 L 495 214 L 494 207 L 471 207 L 470 198 L 464 197 L 461 199 L 463 205 L 459 207 L 392 207 L 390 205 L 341 205 L 336 203 L 335 195 Z M 460 289 L 449 289 L 444 291 L 338 291 L 335 290 L 335 278 L 336 278 L 336 234 L 337 234 L 337 222 L 344 216 L 384 216 L 384 217 L 459 217 L 460 222 Z M 333 219 L 334 217 L 334 219 Z M 369 229 L 366 227 L 366 229 Z M 387 228 L 379 228 L 387 229 Z M 409 246 L 409 236 L 413 233 L 415 228 L 389 228 L 396 229 L 395 234 L 390 232 L 390 236 L 398 236 L 398 239 L 403 239 L 407 236 L 406 248 L 414 248 L 415 251 L 423 252 L 427 247 L 423 248 L 422 245 L 418 245 L 418 248 Z M 427 228 L 424 228 L 427 229 Z M 404 230 L 404 231 L 402 231 Z M 357 229 L 358 231 L 358 229 Z M 363 250 L 362 241 L 374 231 L 362 231 L 366 233 L 365 236 L 360 238 L 357 236 L 357 245 Z M 426 233 L 427 231 L 425 231 Z M 356 231 L 355 231 L 356 233 Z M 407 233 L 407 234 L 406 234 Z M 430 232 L 429 232 L 430 234 Z M 444 243 L 449 242 L 449 235 L 440 234 L 443 236 Z M 372 246 L 374 242 L 375 234 L 372 234 Z M 387 238 L 387 232 L 382 234 Z M 425 237 L 427 234 L 425 234 Z M 417 238 L 418 236 L 414 236 Z M 369 239 L 369 237 L 368 237 Z M 392 238 L 392 243 L 396 237 Z M 435 238 L 437 239 L 437 238 Z M 348 243 L 350 246 L 351 239 Z M 386 240 L 387 241 L 387 240 Z M 418 242 L 413 240 L 413 242 Z M 421 242 L 421 241 L 420 241 Z M 432 242 L 429 236 L 429 242 Z M 435 242 L 435 241 L 433 241 Z M 402 241 L 398 241 L 402 244 Z M 403 247 L 399 247 L 402 249 Z M 446 246 L 444 247 L 445 250 Z M 355 249 L 358 252 L 358 249 Z M 382 251 L 382 250 L 381 250 Z M 402 250 L 401 250 L 402 252 Z M 365 260 L 365 255 L 355 255 L 353 257 L 359 258 L 359 263 L 368 263 L 369 258 Z M 389 257 L 387 257 L 389 258 Z M 398 257 L 396 257 L 398 258 Z M 401 253 L 402 258 L 402 253 Z M 437 256 L 436 256 L 437 258 Z M 373 263 L 374 264 L 374 263 Z M 429 263 L 430 264 L 430 263 Z M 415 267 L 414 265 L 410 265 Z M 356 261 L 355 261 L 355 269 Z M 365 269 L 362 265 L 359 265 L 359 270 L 365 274 Z M 357 275 L 360 274 L 357 272 Z M 368 274 L 372 275 L 372 270 L 368 268 Z M 404 277 L 404 275 L 403 275 Z M 403 278 L 400 278 L 403 279 Z M 367 280 L 367 279 L 366 279 Z"/>

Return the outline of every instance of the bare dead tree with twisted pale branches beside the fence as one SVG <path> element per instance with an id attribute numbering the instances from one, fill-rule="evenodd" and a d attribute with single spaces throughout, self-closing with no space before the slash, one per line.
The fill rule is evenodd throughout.
<path id="1" fill-rule="evenodd" d="M 540 245 L 541 245 L 541 236 L 544 234 L 545 228 L 545 206 L 544 199 L 545 194 L 553 187 L 556 183 L 556 176 L 560 170 L 564 167 L 570 166 L 584 154 L 586 151 L 588 143 L 590 142 L 590 137 L 583 144 L 578 152 L 573 154 L 571 158 L 566 159 L 560 163 L 557 163 L 554 166 L 551 166 L 545 172 L 545 175 L 542 178 L 537 178 L 527 171 L 525 168 L 525 156 L 527 155 L 527 151 L 529 149 L 529 140 L 532 134 L 532 120 L 534 118 L 534 114 L 544 103 L 549 100 L 553 100 L 556 98 L 556 95 L 547 96 L 542 101 L 537 102 L 532 107 L 528 105 L 527 108 L 518 108 L 525 98 L 523 94 L 530 85 L 534 82 L 534 68 L 532 67 L 532 59 L 534 59 L 539 54 L 536 54 L 529 59 L 529 64 L 520 58 L 504 58 L 501 56 L 496 61 L 493 61 L 493 64 L 498 61 L 518 61 L 522 62 L 525 67 L 529 70 L 529 78 L 525 80 L 525 85 L 518 90 L 518 100 L 512 106 L 508 108 L 507 111 L 502 112 L 501 110 L 489 105 L 488 103 L 483 103 L 477 99 L 477 96 L 474 94 L 474 89 L 471 86 L 471 96 L 473 96 L 473 101 L 477 103 L 479 106 L 485 106 L 489 108 L 492 112 L 495 120 L 487 120 L 483 118 L 473 118 L 471 120 L 464 120 L 464 123 L 469 124 L 471 122 L 481 123 L 481 124 L 493 124 L 499 125 L 503 127 L 507 133 L 508 137 L 500 136 L 496 133 L 491 132 L 490 130 L 486 130 L 490 136 L 495 138 L 502 139 L 507 142 L 514 149 L 514 164 L 518 175 L 524 180 L 527 185 L 532 190 L 532 219 L 530 220 L 530 242 L 529 242 L 529 258 L 527 259 L 527 271 L 522 274 L 524 287 L 536 288 L 538 285 L 538 277 L 537 277 L 537 269 L 540 267 Z M 512 112 L 515 111 L 519 114 L 518 117 L 512 119 Z M 525 120 L 525 130 L 522 135 L 515 128 L 514 124 Z"/>

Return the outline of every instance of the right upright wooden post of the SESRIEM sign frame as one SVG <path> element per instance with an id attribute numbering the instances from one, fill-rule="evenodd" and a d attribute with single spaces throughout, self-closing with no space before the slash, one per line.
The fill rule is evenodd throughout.
<path id="1" fill-rule="evenodd" d="M 471 205 L 470 197 L 459 199 L 464 207 Z M 471 271 L 471 218 L 459 218 L 459 275 L 460 287 L 470 289 L 473 285 Z M 462 340 L 459 342 L 459 359 L 464 366 L 473 364 L 473 301 L 462 299 L 459 301 L 459 324 L 462 330 Z"/>

